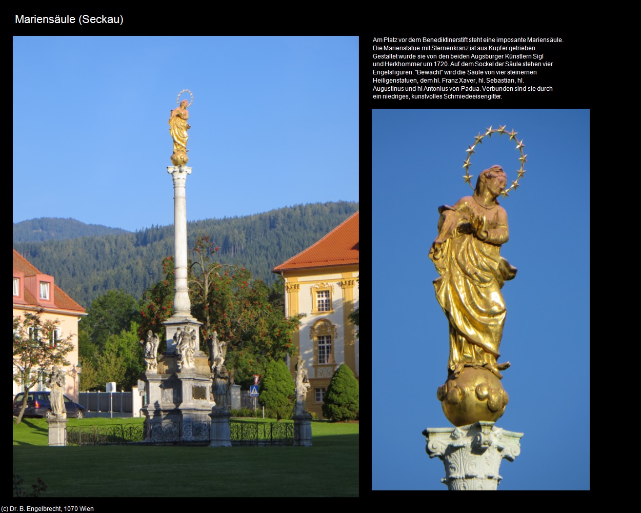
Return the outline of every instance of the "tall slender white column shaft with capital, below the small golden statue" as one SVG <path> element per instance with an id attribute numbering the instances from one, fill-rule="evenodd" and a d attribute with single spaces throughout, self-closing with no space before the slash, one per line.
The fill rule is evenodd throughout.
<path id="1" fill-rule="evenodd" d="M 174 314 L 172 317 L 191 317 L 187 288 L 187 203 L 185 183 L 192 168 L 186 165 L 167 166 L 174 181 Z"/>

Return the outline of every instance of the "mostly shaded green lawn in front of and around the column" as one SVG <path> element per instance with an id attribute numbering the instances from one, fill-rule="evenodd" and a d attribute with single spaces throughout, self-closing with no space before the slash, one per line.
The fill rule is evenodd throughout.
<path id="1" fill-rule="evenodd" d="M 121 423 L 142 419 L 67 426 Z M 28 488 L 42 478 L 42 497 L 358 496 L 358 424 L 312 422 L 312 444 L 49 447 L 46 421 L 23 419 L 13 426 L 13 469 Z"/>

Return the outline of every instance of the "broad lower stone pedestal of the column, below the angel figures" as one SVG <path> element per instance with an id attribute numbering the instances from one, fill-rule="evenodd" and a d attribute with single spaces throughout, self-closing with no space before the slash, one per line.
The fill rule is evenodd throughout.
<path id="1" fill-rule="evenodd" d="M 178 371 L 178 357 L 165 353 L 158 373 L 144 373 L 147 404 L 145 439 L 153 442 L 203 441 L 208 439 L 212 380 L 207 358 L 194 357 L 194 369 Z"/>

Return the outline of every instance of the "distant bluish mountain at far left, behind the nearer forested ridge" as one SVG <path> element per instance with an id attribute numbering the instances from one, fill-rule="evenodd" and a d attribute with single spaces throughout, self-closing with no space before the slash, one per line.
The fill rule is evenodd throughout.
<path id="1" fill-rule="evenodd" d="M 102 224 L 85 224 L 76 219 L 61 217 L 38 217 L 21 223 L 13 223 L 13 244 L 16 242 L 41 242 L 43 240 L 75 239 L 76 237 L 103 237 L 131 233 L 122 228 L 109 228 Z"/>

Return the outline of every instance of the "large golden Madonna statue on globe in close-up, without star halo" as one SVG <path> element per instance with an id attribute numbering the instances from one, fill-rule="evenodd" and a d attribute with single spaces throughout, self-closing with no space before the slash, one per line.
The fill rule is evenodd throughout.
<path id="1" fill-rule="evenodd" d="M 499 380 L 510 363 L 497 362 L 506 313 L 501 288 L 517 273 L 501 257 L 501 246 L 508 242 L 508 216 L 496 198 L 506 181 L 501 166 L 493 165 L 481 172 L 472 196 L 459 199 L 453 206 L 440 206 L 438 237 L 429 251 L 440 274 L 434 280 L 437 300 L 449 323 L 448 377 L 437 396 L 444 411 L 446 406 L 464 409 L 466 394 L 476 391 L 474 400 L 483 402 L 479 412 L 485 414 L 489 409 L 489 417 L 498 415 L 476 418 L 478 414 L 474 414 L 471 422 L 496 420 L 508 400 Z M 467 414 L 452 415 L 456 421 L 445 411 L 457 426 L 471 418 Z"/>

